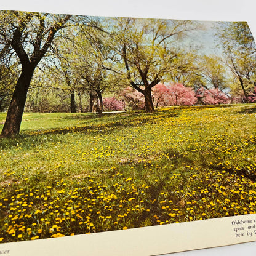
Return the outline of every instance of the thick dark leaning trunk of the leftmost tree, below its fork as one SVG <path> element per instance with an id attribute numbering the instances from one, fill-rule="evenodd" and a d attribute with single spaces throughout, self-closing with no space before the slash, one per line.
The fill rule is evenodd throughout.
<path id="1" fill-rule="evenodd" d="M 6 122 L 2 129 L 1 138 L 14 137 L 20 132 L 20 124 L 26 102 L 26 95 L 30 87 L 30 81 L 34 73 L 34 68 L 27 66 L 23 68 L 20 78 L 18 78 L 14 94 L 7 112 Z"/>

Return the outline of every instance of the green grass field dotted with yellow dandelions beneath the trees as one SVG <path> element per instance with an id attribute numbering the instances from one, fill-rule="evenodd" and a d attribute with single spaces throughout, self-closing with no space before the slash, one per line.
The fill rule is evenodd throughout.
<path id="1" fill-rule="evenodd" d="M 25 113 L 0 140 L 0 241 L 255 214 L 255 145 L 255 104 Z"/>

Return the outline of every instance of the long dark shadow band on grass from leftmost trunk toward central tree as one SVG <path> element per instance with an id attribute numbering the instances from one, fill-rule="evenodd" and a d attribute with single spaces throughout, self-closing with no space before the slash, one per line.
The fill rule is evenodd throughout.
<path id="1" fill-rule="evenodd" d="M 42 130 L 22 130 L 20 135 L 14 138 L 2 138 L 0 140 L 0 149 L 14 148 L 17 145 L 23 149 L 30 148 L 31 145 L 45 144 L 47 137 L 50 137 L 51 142 L 60 142 L 63 140 L 61 135 L 65 134 L 86 134 L 86 135 L 97 135 L 97 134 L 111 134 L 118 130 L 140 127 L 144 124 L 154 124 L 157 119 L 161 116 L 167 118 L 177 117 L 177 111 L 167 110 L 155 111 L 154 113 L 145 113 L 144 111 L 127 111 L 122 113 L 106 113 L 102 118 L 99 118 L 97 114 L 92 115 L 74 115 L 66 116 L 66 119 L 84 119 L 90 120 L 89 123 L 81 124 L 73 127 L 63 127 L 54 129 L 42 129 Z M 60 135 L 60 136 L 51 136 Z"/>

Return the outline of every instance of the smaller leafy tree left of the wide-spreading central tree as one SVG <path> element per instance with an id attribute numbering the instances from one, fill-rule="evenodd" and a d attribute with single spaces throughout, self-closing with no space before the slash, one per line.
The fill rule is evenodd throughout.
<path id="1" fill-rule="evenodd" d="M 118 87 L 119 76 L 113 73 L 110 66 L 111 50 L 106 44 L 108 34 L 102 28 L 102 20 L 94 18 L 90 27 L 81 26 L 79 33 L 69 37 L 74 48 L 71 66 L 77 80 L 76 90 L 86 91 L 90 96 L 89 111 L 95 110 L 99 116 L 103 112 L 102 94 Z"/>

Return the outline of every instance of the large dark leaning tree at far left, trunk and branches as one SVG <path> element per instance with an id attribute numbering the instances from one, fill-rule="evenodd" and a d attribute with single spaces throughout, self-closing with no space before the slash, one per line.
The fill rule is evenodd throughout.
<path id="1" fill-rule="evenodd" d="M 0 44 L 5 45 L 7 41 L 22 66 L 2 129 L 3 138 L 14 137 L 20 132 L 26 96 L 34 70 L 71 15 L 1 11 L 0 16 L 11 20 L 4 28 L 1 27 L 6 39 L 3 41 L 1 37 Z"/>

